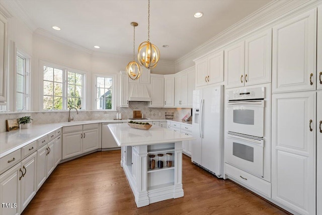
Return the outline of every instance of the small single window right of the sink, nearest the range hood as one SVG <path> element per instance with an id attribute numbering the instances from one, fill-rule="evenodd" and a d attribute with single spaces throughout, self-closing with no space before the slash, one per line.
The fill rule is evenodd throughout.
<path id="1" fill-rule="evenodd" d="M 115 76 L 96 76 L 96 109 L 115 110 Z"/>

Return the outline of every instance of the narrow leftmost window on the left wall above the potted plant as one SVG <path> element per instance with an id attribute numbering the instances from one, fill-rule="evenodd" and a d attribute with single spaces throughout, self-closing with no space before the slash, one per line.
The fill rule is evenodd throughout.
<path id="1" fill-rule="evenodd" d="M 16 110 L 29 109 L 29 59 L 22 53 L 16 56 Z"/>

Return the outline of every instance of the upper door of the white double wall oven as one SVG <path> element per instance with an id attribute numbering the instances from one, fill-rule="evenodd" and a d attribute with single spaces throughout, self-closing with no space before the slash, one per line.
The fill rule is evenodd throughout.
<path id="1" fill-rule="evenodd" d="M 264 100 L 227 101 L 227 130 L 264 136 Z"/>

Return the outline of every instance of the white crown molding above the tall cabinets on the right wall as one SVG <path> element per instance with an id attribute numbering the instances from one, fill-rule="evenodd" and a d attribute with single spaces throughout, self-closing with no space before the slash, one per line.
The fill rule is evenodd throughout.
<path id="1" fill-rule="evenodd" d="M 193 61 L 207 55 L 210 52 L 217 51 L 228 43 L 240 39 L 247 35 L 264 29 L 269 25 L 276 24 L 281 19 L 294 15 L 298 11 L 316 7 L 320 2 L 318 0 L 276 0 L 260 8 L 248 17 L 235 23 L 220 34 L 211 38 L 207 42 L 188 52 L 183 57 L 175 61 L 176 67 L 188 61 Z"/>

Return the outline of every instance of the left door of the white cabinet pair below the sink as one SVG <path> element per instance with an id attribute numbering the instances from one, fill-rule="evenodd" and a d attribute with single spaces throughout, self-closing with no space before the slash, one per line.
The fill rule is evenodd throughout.
<path id="1" fill-rule="evenodd" d="M 83 153 L 83 131 L 64 133 L 62 135 L 62 159 Z"/>

